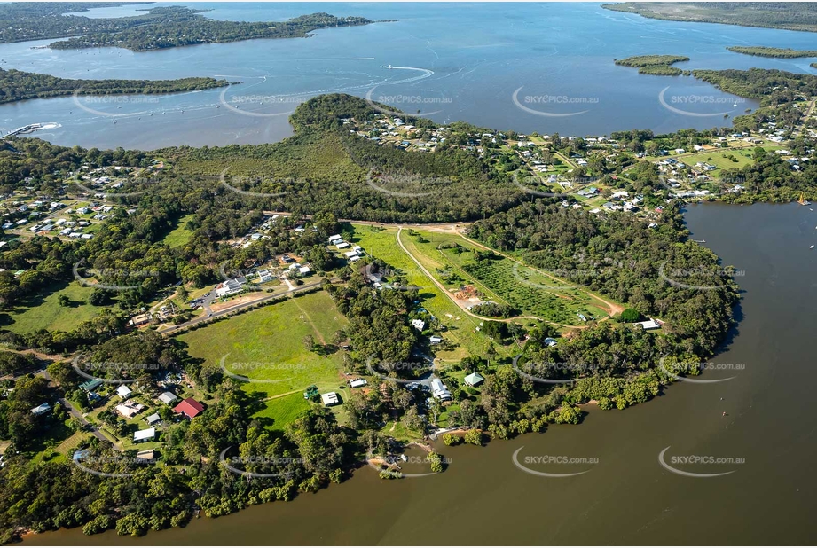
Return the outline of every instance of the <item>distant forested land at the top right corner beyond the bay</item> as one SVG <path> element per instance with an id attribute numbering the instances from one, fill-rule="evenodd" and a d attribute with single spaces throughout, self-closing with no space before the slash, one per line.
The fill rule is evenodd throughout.
<path id="1" fill-rule="evenodd" d="M 722 23 L 742 27 L 817 31 L 817 5 L 800 2 L 624 2 L 601 4 L 650 19 Z"/>

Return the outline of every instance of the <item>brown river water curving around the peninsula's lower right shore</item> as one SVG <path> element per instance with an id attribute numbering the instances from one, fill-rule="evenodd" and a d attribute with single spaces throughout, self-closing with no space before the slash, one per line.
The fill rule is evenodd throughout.
<path id="1" fill-rule="evenodd" d="M 741 271 L 740 324 L 712 360 L 735 365 L 700 377 L 730 380 L 675 383 L 625 411 L 589 408 L 579 426 L 443 446 L 444 474 L 383 481 L 361 468 L 317 494 L 186 528 L 141 538 L 77 528 L 26 544 L 815 544 L 817 212 L 707 204 L 686 216 L 693 238 Z M 669 466 L 725 475 L 674 474 L 659 462 L 667 447 Z M 585 473 L 528 474 L 517 450 L 534 472 Z"/>

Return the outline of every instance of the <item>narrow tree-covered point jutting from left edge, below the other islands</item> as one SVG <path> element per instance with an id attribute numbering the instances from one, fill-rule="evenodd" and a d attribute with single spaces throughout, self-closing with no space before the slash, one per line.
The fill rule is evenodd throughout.
<path id="1" fill-rule="evenodd" d="M 177 80 L 72 80 L 51 74 L 27 73 L 0 68 L 0 104 L 24 99 L 67 95 L 160 94 L 209 90 L 229 85 L 215 78 L 179 78 Z"/>

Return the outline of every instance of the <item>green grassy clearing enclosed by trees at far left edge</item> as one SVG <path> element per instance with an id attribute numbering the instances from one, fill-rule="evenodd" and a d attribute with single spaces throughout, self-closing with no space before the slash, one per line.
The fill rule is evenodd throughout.
<path id="1" fill-rule="evenodd" d="M 93 288 L 76 281 L 48 287 L 42 294 L 21 301 L 6 312 L 12 323 L 5 327 L 14 333 L 29 333 L 38 329 L 71 331 L 105 308 L 88 304 L 92 292 Z M 71 303 L 59 306 L 59 295 L 66 295 Z"/>

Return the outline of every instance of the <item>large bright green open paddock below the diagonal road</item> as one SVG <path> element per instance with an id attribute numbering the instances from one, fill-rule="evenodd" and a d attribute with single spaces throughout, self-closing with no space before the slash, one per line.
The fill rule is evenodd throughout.
<path id="1" fill-rule="evenodd" d="M 341 352 L 326 356 L 310 352 L 304 338 L 311 335 L 317 346 L 322 341 L 328 344 L 346 324 L 322 291 L 252 310 L 178 339 L 187 344 L 191 356 L 209 364 L 221 364 L 226 356 L 224 368 L 254 380 L 244 389 L 266 400 L 258 415 L 282 426 L 309 407 L 302 395 L 305 388 L 314 384 L 327 392 L 342 386 Z"/>

